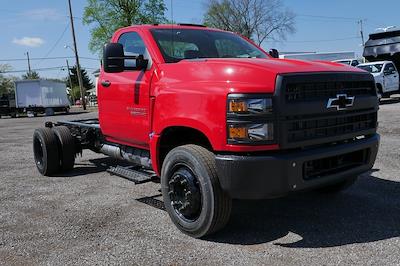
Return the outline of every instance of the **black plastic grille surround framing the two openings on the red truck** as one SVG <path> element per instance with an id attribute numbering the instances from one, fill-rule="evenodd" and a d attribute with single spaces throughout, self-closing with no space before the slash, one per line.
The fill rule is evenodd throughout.
<path id="1" fill-rule="evenodd" d="M 338 142 L 346 139 L 351 139 L 360 135 L 372 135 L 376 133 L 376 127 L 370 130 L 363 130 L 352 132 L 349 134 L 337 135 L 333 137 L 324 137 L 318 139 L 310 139 L 300 142 L 288 142 L 287 123 L 290 121 L 288 117 L 297 116 L 299 120 L 308 119 L 308 117 L 329 118 L 332 116 L 342 117 L 347 113 L 354 115 L 362 114 L 364 111 L 369 110 L 371 113 L 378 111 L 378 97 L 375 95 L 360 95 L 356 96 L 353 107 L 345 111 L 337 111 L 326 107 L 326 100 L 303 101 L 303 102 L 287 102 L 285 97 L 285 88 L 289 83 L 304 83 L 304 82 L 357 82 L 368 81 L 375 84 L 374 78 L 369 73 L 362 72 L 321 72 L 321 73 L 290 73 L 281 74 L 276 78 L 276 89 L 274 93 L 274 111 L 278 115 L 277 127 L 279 128 L 279 146 L 281 149 L 293 149 L 307 146 L 313 146 L 323 143 Z M 301 117 L 303 116 L 303 117 Z M 377 125 L 376 125 L 377 126 Z"/>

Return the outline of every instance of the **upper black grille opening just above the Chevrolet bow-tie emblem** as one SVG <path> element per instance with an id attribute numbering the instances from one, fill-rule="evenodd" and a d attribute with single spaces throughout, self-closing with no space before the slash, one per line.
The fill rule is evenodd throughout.
<path id="1" fill-rule="evenodd" d="M 376 95 L 375 84 L 370 81 L 290 83 L 285 96 L 287 102 L 297 102 L 326 99 L 337 94 Z"/>

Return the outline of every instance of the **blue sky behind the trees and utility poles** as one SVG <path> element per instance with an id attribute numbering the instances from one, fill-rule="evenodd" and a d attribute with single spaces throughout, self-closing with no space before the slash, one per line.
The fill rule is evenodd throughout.
<path id="1" fill-rule="evenodd" d="M 166 0 L 166 17 L 177 22 L 201 23 L 207 0 Z M 172 3 L 172 9 L 171 9 Z M 360 25 L 363 20 L 365 41 L 368 34 L 379 27 L 400 28 L 399 0 L 386 0 L 377 6 L 376 0 L 282 0 L 285 8 L 296 14 L 296 33 L 280 42 L 266 41 L 265 50 L 276 48 L 285 52 L 354 51 L 362 54 Z M 81 65 L 89 73 L 99 67 L 98 56 L 88 49 L 90 26 L 82 24 L 86 0 L 72 0 L 73 16 Z M 379 9 L 379 12 L 375 11 Z M 172 11 L 172 12 L 171 12 Z M 65 59 L 74 65 L 72 35 L 67 0 L 0 0 L 0 64 L 9 64 L 12 71 L 28 69 L 26 52 L 31 67 L 42 77 L 65 78 Z M 18 59 L 18 60 L 10 60 Z M 54 68 L 54 69 L 47 69 Z M 24 73 L 15 72 L 20 76 Z M 93 78 L 93 76 L 91 76 Z"/>

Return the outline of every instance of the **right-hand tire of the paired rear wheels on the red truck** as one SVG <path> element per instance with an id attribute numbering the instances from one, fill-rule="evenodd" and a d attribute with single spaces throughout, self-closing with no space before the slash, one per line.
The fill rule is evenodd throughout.
<path id="1" fill-rule="evenodd" d="M 70 171 L 75 164 L 75 139 L 66 126 L 52 128 L 57 137 L 60 168 L 62 171 Z"/>

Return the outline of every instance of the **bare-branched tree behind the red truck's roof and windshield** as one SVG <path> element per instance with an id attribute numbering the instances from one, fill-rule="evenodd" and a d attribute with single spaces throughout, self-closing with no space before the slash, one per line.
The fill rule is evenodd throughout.
<path id="1" fill-rule="evenodd" d="M 295 32 L 295 15 L 281 0 L 209 0 L 204 24 L 240 33 L 261 45 Z"/>

